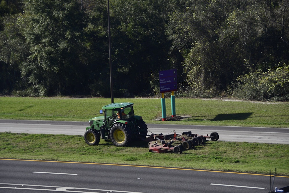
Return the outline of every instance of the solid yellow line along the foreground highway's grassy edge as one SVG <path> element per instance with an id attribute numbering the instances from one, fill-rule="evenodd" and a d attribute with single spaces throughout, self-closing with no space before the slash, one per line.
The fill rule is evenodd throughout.
<path id="1" fill-rule="evenodd" d="M 188 170 L 188 171 L 200 171 L 200 172 L 218 172 L 218 173 L 228 173 L 228 174 L 246 174 L 246 175 L 256 175 L 256 176 L 270 176 L 268 174 L 250 174 L 242 172 L 225 172 L 225 171 L 214 171 L 214 170 L 196 170 L 196 169 L 185 169 L 185 168 L 167 168 L 167 167 L 156 167 L 156 166 L 134 166 L 134 165 L 124 165 L 124 164 L 114 164 L 114 163 L 87 163 L 87 162 L 74 162 L 74 161 L 46 161 L 46 160 L 29 160 L 29 159 L 3 159 L 0 160 L 12 160 L 12 161 L 39 161 L 39 162 L 55 162 L 55 163 L 81 163 L 81 164 L 94 164 L 94 165 L 106 165 L 106 166 L 129 166 L 129 167 L 140 167 L 140 168 L 160 168 L 160 169 L 171 169 L 171 170 Z M 289 178 L 289 176 L 276 176 Z"/>

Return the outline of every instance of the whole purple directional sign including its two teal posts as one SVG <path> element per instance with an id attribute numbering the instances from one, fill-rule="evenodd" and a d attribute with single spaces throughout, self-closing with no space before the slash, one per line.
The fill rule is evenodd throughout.
<path id="1" fill-rule="evenodd" d="M 162 120 L 166 121 L 166 102 L 164 98 L 164 93 L 166 92 L 172 92 L 171 94 L 172 117 L 176 116 L 174 91 L 177 90 L 177 69 L 160 71 L 159 75 L 160 75 L 160 93 L 162 93 Z"/>

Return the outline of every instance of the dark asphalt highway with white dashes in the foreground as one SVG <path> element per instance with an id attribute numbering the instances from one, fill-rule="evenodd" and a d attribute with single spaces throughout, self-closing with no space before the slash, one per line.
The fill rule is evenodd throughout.
<path id="1" fill-rule="evenodd" d="M 97 160 L 96 160 L 97 161 Z M 288 186 L 275 178 L 274 187 Z M 0 192 L 268 192 L 270 177 L 234 172 L 0 159 Z"/>

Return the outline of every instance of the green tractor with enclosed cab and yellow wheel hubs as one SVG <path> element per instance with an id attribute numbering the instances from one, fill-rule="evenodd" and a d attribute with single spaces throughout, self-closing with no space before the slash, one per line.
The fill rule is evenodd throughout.
<path id="1" fill-rule="evenodd" d="M 146 138 L 147 125 L 141 116 L 134 115 L 133 103 L 111 103 L 99 113 L 103 116 L 90 119 L 90 127 L 86 127 L 84 140 L 88 145 L 98 145 L 101 138 L 122 147 Z"/>

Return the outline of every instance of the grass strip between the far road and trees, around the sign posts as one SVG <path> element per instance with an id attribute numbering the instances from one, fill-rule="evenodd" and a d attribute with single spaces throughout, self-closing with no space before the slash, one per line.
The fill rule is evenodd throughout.
<path id="1" fill-rule="evenodd" d="M 88 121 L 99 116 L 110 98 L 0 97 L 0 119 Z M 289 102 L 248 102 L 176 98 L 181 121 L 162 120 L 160 98 L 115 98 L 114 102 L 132 102 L 136 115 L 146 123 L 255 126 L 289 128 Z M 171 99 L 166 98 L 166 116 L 171 117 Z"/>

